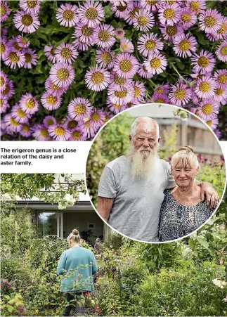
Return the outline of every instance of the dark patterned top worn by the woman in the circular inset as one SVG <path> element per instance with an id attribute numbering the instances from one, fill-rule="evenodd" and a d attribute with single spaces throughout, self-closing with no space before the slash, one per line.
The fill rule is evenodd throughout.
<path id="1" fill-rule="evenodd" d="M 209 219 L 214 209 L 207 207 L 205 201 L 196 205 L 181 205 L 177 202 L 171 190 L 164 190 L 164 201 L 160 213 L 160 241 L 170 241 L 181 238 L 195 231 Z"/>

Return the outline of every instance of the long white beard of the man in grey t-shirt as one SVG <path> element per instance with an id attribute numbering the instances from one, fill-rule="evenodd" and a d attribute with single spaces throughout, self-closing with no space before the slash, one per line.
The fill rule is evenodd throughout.
<path id="1" fill-rule="evenodd" d="M 141 179 L 146 179 L 153 173 L 159 158 L 157 148 L 155 150 L 150 149 L 150 151 L 145 149 L 136 150 L 133 145 L 131 145 L 128 156 L 131 160 L 131 174 L 134 178 L 140 177 Z"/>

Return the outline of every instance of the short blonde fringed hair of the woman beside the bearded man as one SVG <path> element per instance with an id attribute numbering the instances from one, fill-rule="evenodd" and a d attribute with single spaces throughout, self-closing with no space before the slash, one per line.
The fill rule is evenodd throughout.
<path id="1" fill-rule="evenodd" d="M 200 163 L 197 160 L 193 148 L 190 146 L 183 146 L 172 157 L 171 168 L 176 166 L 186 168 L 188 165 L 190 168 L 194 167 L 198 169 L 200 167 Z"/>

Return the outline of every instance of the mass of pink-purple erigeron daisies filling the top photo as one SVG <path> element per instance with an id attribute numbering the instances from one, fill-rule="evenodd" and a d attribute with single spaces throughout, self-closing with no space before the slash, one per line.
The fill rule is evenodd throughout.
<path id="1" fill-rule="evenodd" d="M 19 6 L 13 22 L 22 33 L 8 39 L 2 29 L 1 58 L 8 67 L 31 68 L 37 64 L 37 54 L 28 47 L 26 34 L 34 34 L 40 26 L 41 0 L 20 0 Z M 108 6 L 113 20 L 125 23 L 124 29 L 106 22 Z M 1 1 L 1 22 L 9 14 L 7 1 Z M 56 20 L 74 32 L 68 42 L 41 48 L 52 66 L 40 99 L 25 91 L 19 103 L 10 106 L 13 82 L 1 72 L 2 134 L 43 141 L 92 139 L 122 110 L 140 103 L 169 103 L 195 113 L 221 136 L 218 115 L 227 100 L 227 18 L 216 8 L 207 8 L 204 0 L 74 1 L 59 4 Z M 132 33 L 127 32 L 130 27 Z M 209 51 L 197 39 L 201 32 L 210 41 Z M 77 82 L 74 61 L 86 51 L 96 60 L 84 71 L 89 96 L 77 96 L 75 91 L 65 116 L 56 117 L 64 94 Z M 181 75 L 176 60 L 190 61 L 187 74 Z M 177 75 L 178 80 L 156 84 L 165 73 Z M 100 92 L 105 98 L 101 106 L 90 98 Z M 41 121 L 36 119 L 40 107 L 49 112 Z"/>

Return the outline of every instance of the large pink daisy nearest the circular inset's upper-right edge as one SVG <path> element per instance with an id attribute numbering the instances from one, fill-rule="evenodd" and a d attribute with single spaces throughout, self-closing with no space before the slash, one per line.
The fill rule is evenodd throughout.
<path id="1" fill-rule="evenodd" d="M 212 99 L 205 99 L 201 103 L 199 103 L 199 106 L 197 108 L 197 115 L 207 121 L 212 120 L 217 117 L 219 114 L 219 103 L 216 103 L 213 98 Z"/>

